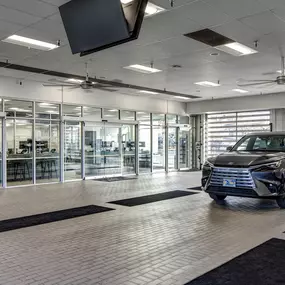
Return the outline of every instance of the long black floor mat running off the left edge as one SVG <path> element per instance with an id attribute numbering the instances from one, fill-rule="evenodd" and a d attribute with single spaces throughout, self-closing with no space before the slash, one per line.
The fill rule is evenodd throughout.
<path id="1" fill-rule="evenodd" d="M 21 218 L 9 219 L 0 221 L 0 232 L 7 232 L 21 228 L 38 226 L 42 224 L 58 222 L 62 220 L 77 218 L 86 215 L 93 215 L 101 212 L 111 211 L 114 209 L 101 206 L 84 206 L 80 208 L 73 208 L 67 210 L 60 210 L 56 212 L 49 212 L 37 214 L 33 216 L 26 216 Z"/>

